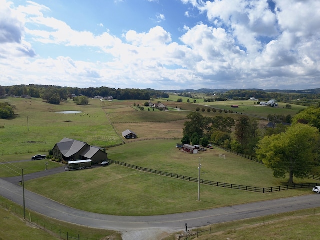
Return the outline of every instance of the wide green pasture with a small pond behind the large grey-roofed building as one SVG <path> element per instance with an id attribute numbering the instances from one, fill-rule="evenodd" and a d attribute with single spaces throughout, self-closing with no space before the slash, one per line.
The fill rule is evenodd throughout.
<path id="1" fill-rule="evenodd" d="M 110 125 L 99 99 L 91 99 L 87 106 L 78 106 L 72 101 L 52 105 L 37 98 L 6 98 L 0 101 L 14 105 L 17 115 L 15 119 L 0 119 L 0 126 L 4 127 L 0 128 L 0 155 L 47 153 L 64 137 L 101 147 L 122 142 Z M 82 113 L 56 113 L 64 110 Z"/>

